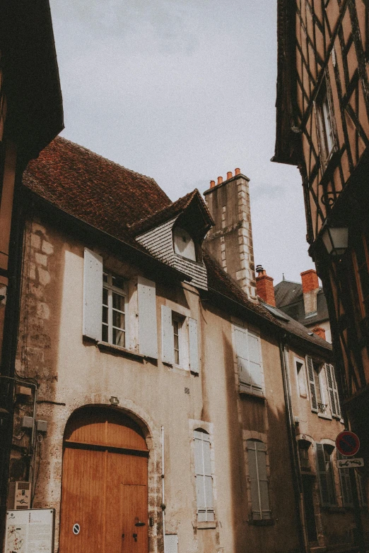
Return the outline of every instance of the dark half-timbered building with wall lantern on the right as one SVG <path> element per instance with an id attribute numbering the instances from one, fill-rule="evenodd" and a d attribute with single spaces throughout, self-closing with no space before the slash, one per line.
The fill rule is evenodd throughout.
<path id="1" fill-rule="evenodd" d="M 279 0 L 274 161 L 298 165 L 344 412 L 369 465 L 369 5 Z M 347 422 L 347 420 L 346 420 Z"/>

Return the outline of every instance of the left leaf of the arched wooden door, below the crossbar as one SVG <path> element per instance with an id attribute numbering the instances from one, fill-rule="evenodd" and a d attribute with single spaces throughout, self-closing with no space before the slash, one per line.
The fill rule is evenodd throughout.
<path id="1" fill-rule="evenodd" d="M 104 451 L 64 451 L 60 528 L 61 553 L 103 551 Z M 81 530 L 73 533 L 74 524 Z"/>

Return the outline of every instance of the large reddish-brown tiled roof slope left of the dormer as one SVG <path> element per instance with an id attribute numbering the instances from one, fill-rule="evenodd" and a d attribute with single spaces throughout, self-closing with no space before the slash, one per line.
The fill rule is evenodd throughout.
<path id="1" fill-rule="evenodd" d="M 23 184 L 66 213 L 135 247 L 139 244 L 127 225 L 172 205 L 150 177 L 61 137 L 28 164 Z"/>

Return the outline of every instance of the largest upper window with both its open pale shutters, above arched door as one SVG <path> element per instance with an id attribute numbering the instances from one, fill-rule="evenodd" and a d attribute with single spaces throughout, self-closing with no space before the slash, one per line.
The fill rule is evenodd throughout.
<path id="1" fill-rule="evenodd" d="M 83 336 L 129 349 L 127 291 L 127 282 L 121 276 L 103 272 L 102 256 L 85 248 Z M 139 336 L 134 341 L 139 343 L 139 353 L 157 359 L 156 286 L 141 276 L 137 278 L 137 306 L 138 312 L 135 308 L 133 316 L 139 316 Z"/>

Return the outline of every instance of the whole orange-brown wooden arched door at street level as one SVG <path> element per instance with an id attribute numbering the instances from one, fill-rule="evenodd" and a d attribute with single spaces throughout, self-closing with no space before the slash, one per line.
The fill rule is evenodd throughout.
<path id="1" fill-rule="evenodd" d="M 60 553 L 148 552 L 148 450 L 116 410 L 86 408 L 64 434 Z"/>

